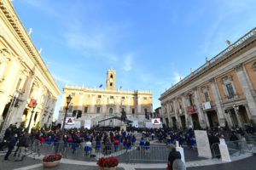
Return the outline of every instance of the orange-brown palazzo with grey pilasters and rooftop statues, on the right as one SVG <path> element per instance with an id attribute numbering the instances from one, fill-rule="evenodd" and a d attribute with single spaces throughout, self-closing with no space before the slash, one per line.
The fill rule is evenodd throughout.
<path id="1" fill-rule="evenodd" d="M 244 127 L 256 122 L 256 29 L 160 94 L 168 127 Z"/>

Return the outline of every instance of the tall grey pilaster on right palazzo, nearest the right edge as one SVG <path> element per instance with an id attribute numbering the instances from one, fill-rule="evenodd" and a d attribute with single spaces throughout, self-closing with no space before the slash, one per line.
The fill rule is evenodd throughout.
<path id="1" fill-rule="evenodd" d="M 236 75 L 241 85 L 242 92 L 247 99 L 247 105 L 250 113 L 252 114 L 252 118 L 256 120 L 256 102 L 253 99 L 253 94 L 251 91 L 252 85 L 251 82 L 247 80 L 247 72 L 243 69 L 243 65 L 236 65 Z"/>

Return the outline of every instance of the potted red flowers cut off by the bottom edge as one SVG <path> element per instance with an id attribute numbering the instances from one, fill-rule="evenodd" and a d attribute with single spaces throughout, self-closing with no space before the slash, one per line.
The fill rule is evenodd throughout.
<path id="1" fill-rule="evenodd" d="M 97 165 L 100 167 L 101 170 L 115 170 L 116 167 L 119 165 L 119 160 L 114 156 L 108 158 L 101 157 L 97 161 Z"/>

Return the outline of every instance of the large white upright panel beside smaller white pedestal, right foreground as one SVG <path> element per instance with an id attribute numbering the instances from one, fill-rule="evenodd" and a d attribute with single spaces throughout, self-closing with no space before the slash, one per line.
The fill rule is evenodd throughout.
<path id="1" fill-rule="evenodd" d="M 195 139 L 198 150 L 198 156 L 212 158 L 207 131 L 195 130 Z"/>

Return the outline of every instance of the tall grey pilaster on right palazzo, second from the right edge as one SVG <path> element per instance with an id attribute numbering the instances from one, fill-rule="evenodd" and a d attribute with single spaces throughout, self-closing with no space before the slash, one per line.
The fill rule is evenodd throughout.
<path id="1" fill-rule="evenodd" d="M 219 125 L 221 127 L 224 127 L 225 126 L 225 119 L 224 119 L 224 109 L 221 105 L 221 98 L 220 98 L 220 94 L 219 94 L 219 91 L 218 91 L 218 85 L 216 83 L 216 80 L 215 78 L 211 78 L 210 79 L 210 83 L 211 83 L 211 87 L 212 87 L 212 93 L 213 93 L 213 96 L 214 96 L 214 99 L 215 99 L 215 104 L 216 104 L 216 107 L 217 107 L 217 116 L 218 116 L 218 122 L 219 122 Z M 226 118 L 228 124 L 229 124 L 229 127 L 232 127 L 232 122 L 230 122 L 230 119 L 229 118 Z"/>

